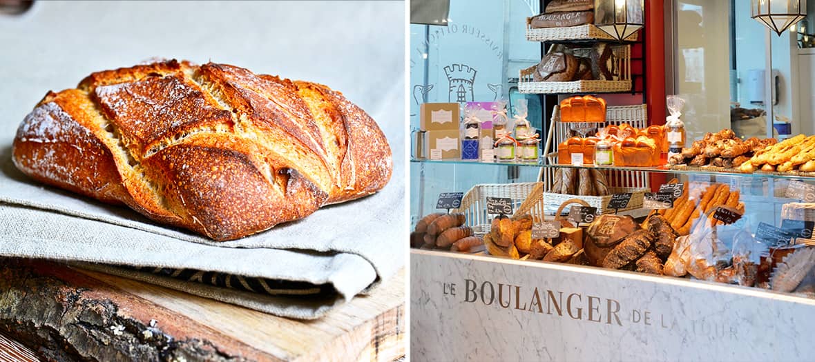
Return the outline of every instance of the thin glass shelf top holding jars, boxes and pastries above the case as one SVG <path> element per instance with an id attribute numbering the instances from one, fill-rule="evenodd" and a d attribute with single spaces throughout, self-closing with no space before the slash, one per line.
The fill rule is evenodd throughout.
<path id="1" fill-rule="evenodd" d="M 716 176 L 716 177 L 763 177 L 763 178 L 776 178 L 776 179 L 788 179 L 788 180 L 807 180 L 807 181 L 815 181 L 815 177 L 813 176 L 799 176 L 799 175 L 790 175 L 790 174 L 783 174 L 778 172 L 755 172 L 755 173 L 740 173 L 740 172 L 721 172 L 721 171 L 706 171 L 700 170 L 698 168 L 694 169 L 687 169 L 687 170 L 677 170 L 677 169 L 670 169 L 665 168 L 664 166 L 659 167 L 623 167 L 623 166 L 593 166 L 593 165 L 583 165 L 583 166 L 574 166 L 571 164 L 543 164 L 543 161 L 539 161 L 537 163 L 522 163 L 522 162 L 495 162 L 495 163 L 486 163 L 486 162 L 474 162 L 474 161 L 465 161 L 461 159 L 411 159 L 410 162 L 412 163 L 422 163 L 422 164 L 450 164 L 450 165 L 477 165 L 477 166 L 520 166 L 520 167 L 534 167 L 534 168 L 595 168 L 601 170 L 610 170 L 610 171 L 640 171 L 640 172 L 651 172 L 651 173 L 665 173 L 665 174 L 673 174 L 673 175 L 704 175 L 704 176 Z"/>

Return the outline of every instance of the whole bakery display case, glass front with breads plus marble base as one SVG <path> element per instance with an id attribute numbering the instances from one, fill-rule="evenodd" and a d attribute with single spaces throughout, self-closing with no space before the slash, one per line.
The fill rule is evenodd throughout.
<path id="1" fill-rule="evenodd" d="M 456 177 L 513 168 L 524 175 L 513 182 Z M 813 352 L 799 336 L 815 332 L 815 177 L 544 159 L 413 159 L 411 172 L 412 198 L 423 199 L 411 207 L 420 360 L 800 360 Z M 562 180 L 576 189 L 600 189 L 603 178 L 609 195 L 553 193 L 548 173 L 568 175 Z M 620 188 L 615 173 L 641 175 L 644 187 Z M 443 193 L 460 201 L 440 200 Z M 754 337 L 764 335 L 772 337 Z M 439 344 L 435 336 L 461 337 Z"/>

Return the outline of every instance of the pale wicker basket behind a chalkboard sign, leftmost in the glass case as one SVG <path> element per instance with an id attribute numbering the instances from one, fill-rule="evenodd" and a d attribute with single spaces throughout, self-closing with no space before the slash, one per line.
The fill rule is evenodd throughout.
<path id="1" fill-rule="evenodd" d="M 512 198 L 514 215 L 530 214 L 538 220 L 543 220 L 543 198 L 530 197 L 532 194 L 542 195 L 543 190 L 542 182 L 474 185 L 461 198 L 461 207 L 452 212 L 464 214 L 466 225 L 473 228 L 475 233 L 488 233 L 492 220 L 491 216 L 487 215 L 487 197 Z"/>

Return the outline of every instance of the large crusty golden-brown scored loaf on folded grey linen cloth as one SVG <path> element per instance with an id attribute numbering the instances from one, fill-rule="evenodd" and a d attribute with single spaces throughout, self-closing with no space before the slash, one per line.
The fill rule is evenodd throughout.
<path id="1" fill-rule="evenodd" d="M 37 181 L 215 240 L 373 194 L 392 168 L 377 124 L 325 85 L 175 60 L 48 92 L 13 160 Z"/>

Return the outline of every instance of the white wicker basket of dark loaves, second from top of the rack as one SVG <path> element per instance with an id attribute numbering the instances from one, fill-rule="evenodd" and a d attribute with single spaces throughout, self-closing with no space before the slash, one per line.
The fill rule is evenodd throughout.
<path id="1" fill-rule="evenodd" d="M 574 49 L 576 56 L 590 51 L 591 48 Z M 518 78 L 518 92 L 535 94 L 570 94 L 570 93 L 615 93 L 631 90 L 631 46 L 611 46 L 615 63 L 612 73 L 618 76 L 616 81 L 534 81 L 534 65 L 521 69 Z M 587 55 L 588 56 L 588 55 Z"/>

